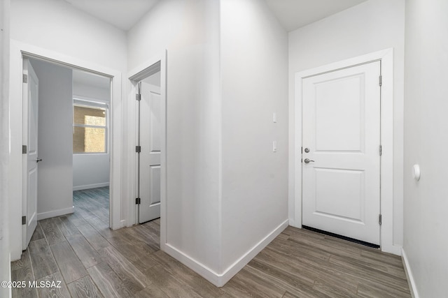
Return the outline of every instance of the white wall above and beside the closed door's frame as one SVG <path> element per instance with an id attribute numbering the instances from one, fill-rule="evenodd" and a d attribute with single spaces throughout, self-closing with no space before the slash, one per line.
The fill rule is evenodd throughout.
<path id="1" fill-rule="evenodd" d="M 393 47 L 393 244 L 402 245 L 405 0 L 370 0 L 289 33 L 289 121 L 294 126 L 294 73 Z M 290 140 L 294 131 L 290 130 Z M 289 144 L 294 164 L 295 144 Z M 384 148 L 384 150 L 387 150 Z M 294 217 L 294 168 L 289 168 Z M 295 190 L 300 192 L 301 190 Z"/>

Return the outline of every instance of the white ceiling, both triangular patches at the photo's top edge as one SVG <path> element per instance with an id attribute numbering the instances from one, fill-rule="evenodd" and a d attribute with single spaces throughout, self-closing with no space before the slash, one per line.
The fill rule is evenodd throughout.
<path id="1" fill-rule="evenodd" d="M 160 0 L 63 0 L 127 31 Z M 262 0 L 259 0 L 262 1 Z M 339 13 L 367 0 L 265 0 L 287 31 Z"/>

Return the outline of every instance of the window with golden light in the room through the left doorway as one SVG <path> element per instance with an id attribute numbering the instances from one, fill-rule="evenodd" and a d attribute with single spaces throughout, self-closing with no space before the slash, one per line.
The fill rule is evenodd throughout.
<path id="1" fill-rule="evenodd" d="M 106 104 L 73 100 L 73 154 L 107 152 Z"/>

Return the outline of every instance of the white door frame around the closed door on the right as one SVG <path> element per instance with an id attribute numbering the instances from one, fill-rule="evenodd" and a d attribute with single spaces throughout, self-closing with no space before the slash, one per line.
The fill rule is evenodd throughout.
<path id="1" fill-rule="evenodd" d="M 341 68 L 348 68 L 372 61 L 381 61 L 381 193 L 380 206 L 382 224 L 380 227 L 381 251 L 401 254 L 400 246 L 393 245 L 393 48 L 365 54 L 359 57 L 338 61 L 325 66 L 303 70 L 295 73 L 294 78 L 294 116 L 290 121 L 292 137 L 290 142 L 294 149 L 290 153 L 289 166 L 293 169 L 293 177 L 289 184 L 293 195 L 289 199 L 290 225 L 302 228 L 302 79 L 311 75 L 328 73 Z"/>

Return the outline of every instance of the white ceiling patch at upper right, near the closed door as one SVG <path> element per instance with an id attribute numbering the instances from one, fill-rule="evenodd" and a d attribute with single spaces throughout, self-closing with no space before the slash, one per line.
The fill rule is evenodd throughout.
<path id="1" fill-rule="evenodd" d="M 287 31 L 339 13 L 367 0 L 266 0 Z"/>

